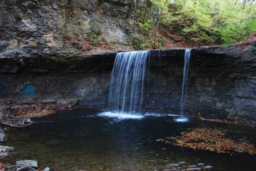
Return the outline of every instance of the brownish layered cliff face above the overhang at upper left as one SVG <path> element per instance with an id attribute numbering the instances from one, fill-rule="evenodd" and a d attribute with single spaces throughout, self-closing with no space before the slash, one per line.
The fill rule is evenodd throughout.
<path id="1" fill-rule="evenodd" d="M 83 41 L 92 34 L 125 46 L 138 33 L 132 2 L 3 0 L 0 57 L 74 56 L 84 52 L 71 46 L 70 39 Z"/>

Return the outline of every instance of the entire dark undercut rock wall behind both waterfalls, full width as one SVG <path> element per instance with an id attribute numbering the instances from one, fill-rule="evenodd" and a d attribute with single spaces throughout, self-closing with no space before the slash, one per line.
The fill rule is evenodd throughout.
<path id="1" fill-rule="evenodd" d="M 102 108 L 117 52 L 0 54 L 2 103 L 53 102 Z M 191 51 L 186 110 L 207 118 L 256 120 L 256 41 Z M 184 49 L 152 50 L 144 109 L 179 112 Z"/>

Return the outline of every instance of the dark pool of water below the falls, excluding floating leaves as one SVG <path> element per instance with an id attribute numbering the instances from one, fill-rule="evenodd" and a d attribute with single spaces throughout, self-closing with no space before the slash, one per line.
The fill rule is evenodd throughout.
<path id="1" fill-rule="evenodd" d="M 8 162 L 34 159 L 54 170 L 168 170 L 169 164 L 205 163 L 211 170 L 255 170 L 255 155 L 217 154 L 156 142 L 178 136 L 189 128 L 222 127 L 256 142 L 255 129 L 223 123 L 189 120 L 175 115 L 145 114 L 131 117 L 92 109 L 57 112 L 33 118 L 32 126 L 8 132 L 18 156 Z M 41 122 L 52 121 L 52 122 Z M 3 145 L 3 144 L 2 144 Z"/>

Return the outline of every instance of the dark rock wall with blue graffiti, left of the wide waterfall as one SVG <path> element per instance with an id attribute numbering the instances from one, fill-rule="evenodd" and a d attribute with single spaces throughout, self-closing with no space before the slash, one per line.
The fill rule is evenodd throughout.
<path id="1" fill-rule="evenodd" d="M 80 101 L 105 105 L 115 54 L 56 60 L 50 57 L 0 58 L 1 102 Z"/>

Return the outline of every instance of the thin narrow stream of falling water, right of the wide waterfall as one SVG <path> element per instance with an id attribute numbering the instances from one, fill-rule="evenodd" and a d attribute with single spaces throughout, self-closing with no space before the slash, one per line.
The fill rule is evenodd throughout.
<path id="1" fill-rule="evenodd" d="M 185 93 L 187 88 L 187 74 L 188 68 L 190 63 L 191 57 L 191 49 L 185 50 L 184 56 L 184 67 L 183 67 L 183 81 L 182 81 L 182 91 L 181 91 L 181 98 L 180 98 L 180 116 L 183 117 L 183 110 L 184 110 L 184 100 L 185 100 Z"/>

